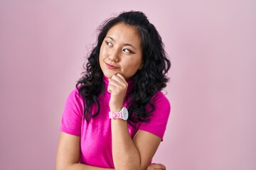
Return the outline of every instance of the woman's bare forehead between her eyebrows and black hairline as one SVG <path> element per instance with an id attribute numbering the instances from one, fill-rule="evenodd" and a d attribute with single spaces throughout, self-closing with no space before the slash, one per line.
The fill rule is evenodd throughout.
<path id="1" fill-rule="evenodd" d="M 116 41 L 124 43 L 133 43 L 140 45 L 141 38 L 138 29 L 134 26 L 129 26 L 125 23 L 117 23 L 112 26 L 107 32 L 107 36 L 110 36 Z"/>

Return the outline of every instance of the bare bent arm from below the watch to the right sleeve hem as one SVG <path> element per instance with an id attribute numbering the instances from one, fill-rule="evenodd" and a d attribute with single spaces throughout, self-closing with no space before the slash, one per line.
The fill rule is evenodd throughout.
<path id="1" fill-rule="evenodd" d="M 143 130 L 139 130 L 132 140 L 127 130 L 127 122 L 112 120 L 115 169 L 146 169 L 160 142 L 160 137 Z"/>

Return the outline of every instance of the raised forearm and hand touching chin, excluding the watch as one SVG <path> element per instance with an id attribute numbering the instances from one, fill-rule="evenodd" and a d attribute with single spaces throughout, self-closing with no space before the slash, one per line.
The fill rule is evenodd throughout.
<path id="1" fill-rule="evenodd" d="M 108 91 L 110 91 L 110 111 L 117 112 L 124 106 L 124 97 L 128 83 L 122 74 L 112 75 L 109 79 Z M 129 135 L 127 121 L 121 119 L 111 120 L 112 132 L 112 157 L 114 169 L 141 169 L 139 151 Z"/>

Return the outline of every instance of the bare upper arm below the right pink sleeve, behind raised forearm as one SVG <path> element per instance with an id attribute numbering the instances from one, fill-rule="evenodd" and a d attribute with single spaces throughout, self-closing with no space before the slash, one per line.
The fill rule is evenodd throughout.
<path id="1" fill-rule="evenodd" d="M 133 138 L 134 145 L 139 151 L 141 159 L 142 169 L 146 169 L 149 165 L 150 160 L 156 153 L 156 149 L 159 147 L 161 138 L 144 130 L 138 130 Z"/>

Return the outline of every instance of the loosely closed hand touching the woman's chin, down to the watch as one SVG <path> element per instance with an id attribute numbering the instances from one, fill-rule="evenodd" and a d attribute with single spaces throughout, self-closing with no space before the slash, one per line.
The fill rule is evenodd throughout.
<path id="1" fill-rule="evenodd" d="M 124 97 L 127 92 L 128 83 L 122 74 L 113 75 L 109 79 L 107 91 L 110 92 L 110 111 L 120 111 L 124 105 Z"/>

